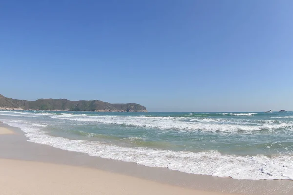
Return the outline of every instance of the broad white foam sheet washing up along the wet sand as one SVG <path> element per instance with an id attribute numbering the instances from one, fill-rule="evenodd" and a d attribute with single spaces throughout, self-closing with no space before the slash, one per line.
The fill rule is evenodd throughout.
<path id="1" fill-rule="evenodd" d="M 29 141 L 50 145 L 63 150 L 87 153 L 150 167 L 166 167 L 193 174 L 205 174 L 235 179 L 290 179 L 293 180 L 293 156 L 237 156 L 217 151 L 188 152 L 126 148 L 102 144 L 97 141 L 69 140 L 45 134 L 39 128 L 15 120 L 5 123 L 19 127 Z"/>

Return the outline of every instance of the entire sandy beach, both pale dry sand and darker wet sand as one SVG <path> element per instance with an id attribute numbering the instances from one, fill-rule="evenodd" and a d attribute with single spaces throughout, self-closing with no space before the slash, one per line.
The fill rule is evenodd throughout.
<path id="1" fill-rule="evenodd" d="M 0 127 L 14 133 L 0 135 L 2 194 L 293 194 L 293 181 L 236 180 L 146 167 L 28 142 L 20 129 Z"/>

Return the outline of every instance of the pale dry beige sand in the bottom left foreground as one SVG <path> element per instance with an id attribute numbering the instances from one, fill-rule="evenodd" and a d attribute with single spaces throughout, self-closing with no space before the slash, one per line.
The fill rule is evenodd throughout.
<path id="1" fill-rule="evenodd" d="M 98 169 L 0 159 L 0 195 L 225 195 Z"/>

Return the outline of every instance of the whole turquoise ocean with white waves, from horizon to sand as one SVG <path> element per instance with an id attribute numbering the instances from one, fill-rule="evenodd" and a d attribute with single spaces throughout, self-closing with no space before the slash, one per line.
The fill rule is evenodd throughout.
<path id="1" fill-rule="evenodd" d="M 0 111 L 28 141 L 234 179 L 293 180 L 293 112 Z"/>

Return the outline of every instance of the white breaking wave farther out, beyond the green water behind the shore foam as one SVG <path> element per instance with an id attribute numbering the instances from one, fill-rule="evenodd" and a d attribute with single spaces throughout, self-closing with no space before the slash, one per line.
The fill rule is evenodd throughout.
<path id="1" fill-rule="evenodd" d="M 180 130 L 180 131 L 211 131 L 211 132 L 237 132 L 237 131 L 260 131 L 260 130 L 275 130 L 280 128 L 293 128 L 293 122 L 280 122 L 277 124 L 241 124 L 230 123 L 223 124 L 225 119 L 210 119 L 198 120 L 194 118 L 167 118 L 167 117 L 110 117 L 110 116 L 95 116 L 95 117 L 52 117 L 55 119 L 71 120 L 79 122 L 104 123 L 129 125 L 146 128 L 158 128 L 163 130 Z M 188 120 L 187 120 L 188 119 Z M 213 121 L 213 122 L 212 122 Z M 222 121 L 222 122 L 220 122 Z"/>

